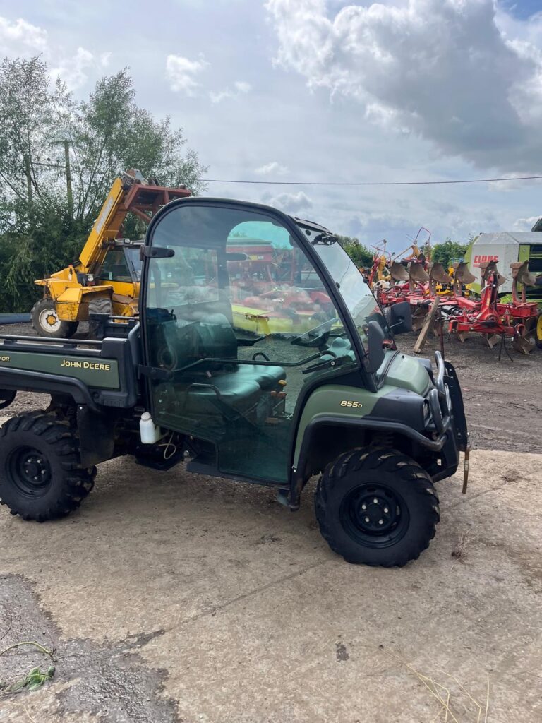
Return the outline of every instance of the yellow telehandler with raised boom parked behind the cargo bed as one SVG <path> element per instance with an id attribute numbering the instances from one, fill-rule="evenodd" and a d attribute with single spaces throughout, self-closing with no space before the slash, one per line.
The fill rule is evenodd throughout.
<path id="1" fill-rule="evenodd" d="M 141 241 L 120 239 L 122 223 L 128 213 L 149 223 L 163 205 L 189 195 L 186 187 L 147 183 L 135 169 L 115 179 L 79 259 L 34 282 L 43 286 L 43 299 L 32 309 L 36 333 L 69 338 L 90 313 L 137 315 Z"/>

